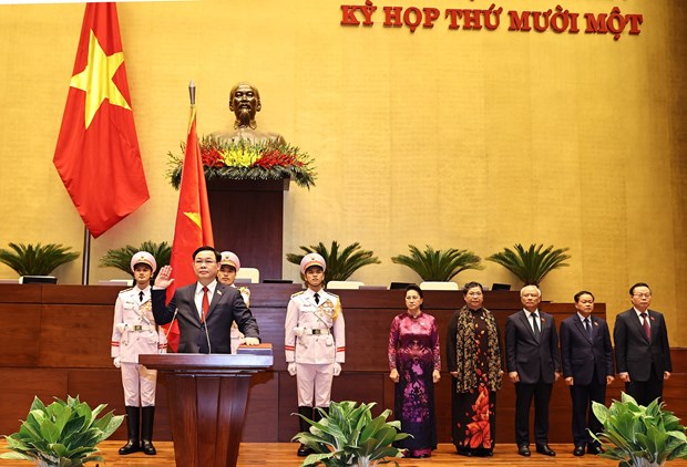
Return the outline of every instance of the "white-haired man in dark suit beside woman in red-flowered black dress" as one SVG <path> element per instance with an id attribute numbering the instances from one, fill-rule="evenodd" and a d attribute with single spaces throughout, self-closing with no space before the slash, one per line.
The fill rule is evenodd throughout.
<path id="1" fill-rule="evenodd" d="M 548 401 L 553 383 L 561 377 L 558 334 L 553 316 L 537 310 L 542 292 L 536 286 L 520 291 L 524 309 L 505 322 L 505 361 L 515 383 L 515 443 L 521 456 L 530 456 L 530 406 L 534 398 L 536 452 L 556 453 L 548 447 Z"/>

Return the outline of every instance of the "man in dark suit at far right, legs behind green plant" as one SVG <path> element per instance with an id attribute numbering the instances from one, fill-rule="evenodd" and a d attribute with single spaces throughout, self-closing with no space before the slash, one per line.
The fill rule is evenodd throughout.
<path id="1" fill-rule="evenodd" d="M 639 282 L 629 288 L 633 308 L 615 319 L 615 363 L 625 392 L 639 405 L 663 397 L 663 382 L 670 377 L 670 345 L 662 313 L 649 310 L 652 290 Z"/>

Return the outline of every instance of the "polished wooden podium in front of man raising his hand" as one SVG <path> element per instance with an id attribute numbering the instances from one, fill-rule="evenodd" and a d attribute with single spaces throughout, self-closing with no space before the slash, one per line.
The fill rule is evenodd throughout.
<path id="1" fill-rule="evenodd" d="M 236 466 L 250 376 L 273 365 L 271 344 L 237 354 L 140 355 L 164 373 L 177 467 Z"/>

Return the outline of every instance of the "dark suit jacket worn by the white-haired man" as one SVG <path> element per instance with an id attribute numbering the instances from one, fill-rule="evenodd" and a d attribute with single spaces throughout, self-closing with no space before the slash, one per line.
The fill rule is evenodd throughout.
<path id="1" fill-rule="evenodd" d="M 541 310 L 539 314 L 542 326 L 539 341 L 524 310 L 511 314 L 505 322 L 505 364 L 509 373 L 517 372 L 520 382 L 525 384 L 540 381 L 552 384 L 555 372 L 561 372 L 556 323 L 551 314 Z"/>

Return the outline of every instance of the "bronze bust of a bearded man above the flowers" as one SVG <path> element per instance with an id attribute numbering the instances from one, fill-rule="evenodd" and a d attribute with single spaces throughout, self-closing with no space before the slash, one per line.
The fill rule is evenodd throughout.
<path id="1" fill-rule="evenodd" d="M 233 132 L 216 132 L 213 134 L 218 139 L 238 142 L 245 139 L 250 143 L 274 142 L 284 143 L 284 137 L 278 133 L 263 133 L 257 131 L 255 114 L 260 112 L 260 93 L 250 83 L 240 82 L 232 87 L 229 93 L 229 110 L 234 112 L 236 120 Z"/>

